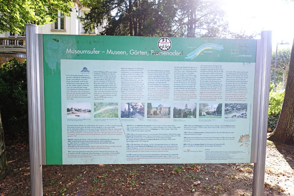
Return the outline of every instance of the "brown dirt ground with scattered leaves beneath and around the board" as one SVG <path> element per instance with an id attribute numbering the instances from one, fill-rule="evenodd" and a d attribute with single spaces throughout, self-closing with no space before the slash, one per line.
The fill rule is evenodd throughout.
<path id="1" fill-rule="evenodd" d="M 0 195 L 30 195 L 29 144 L 7 140 Z M 264 195 L 294 195 L 294 146 L 267 142 Z M 252 195 L 253 164 L 44 165 L 44 195 Z"/>

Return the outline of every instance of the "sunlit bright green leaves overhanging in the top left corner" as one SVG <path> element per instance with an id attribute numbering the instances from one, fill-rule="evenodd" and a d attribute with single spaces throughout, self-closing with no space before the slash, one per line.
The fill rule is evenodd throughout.
<path id="1" fill-rule="evenodd" d="M 57 10 L 67 16 L 72 0 L 0 0 L 0 33 L 19 33 L 25 24 L 43 25 L 56 20 Z"/>

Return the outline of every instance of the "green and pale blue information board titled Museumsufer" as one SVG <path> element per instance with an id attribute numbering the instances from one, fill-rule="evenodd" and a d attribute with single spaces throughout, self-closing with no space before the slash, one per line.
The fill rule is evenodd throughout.
<path id="1" fill-rule="evenodd" d="M 250 163 L 256 48 L 44 34 L 46 164 Z"/>

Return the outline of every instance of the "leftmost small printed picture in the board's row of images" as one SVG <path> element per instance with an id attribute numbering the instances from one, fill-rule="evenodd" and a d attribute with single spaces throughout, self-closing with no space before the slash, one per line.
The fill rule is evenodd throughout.
<path id="1" fill-rule="evenodd" d="M 66 103 L 67 118 L 91 118 L 91 103 Z"/>

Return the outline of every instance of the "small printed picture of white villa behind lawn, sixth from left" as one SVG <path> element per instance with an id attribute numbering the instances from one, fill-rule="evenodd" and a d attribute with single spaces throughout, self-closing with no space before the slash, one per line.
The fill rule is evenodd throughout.
<path id="1" fill-rule="evenodd" d="M 199 103 L 199 118 L 221 118 L 222 103 Z"/>

